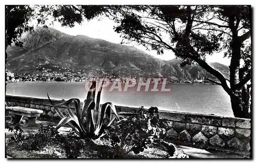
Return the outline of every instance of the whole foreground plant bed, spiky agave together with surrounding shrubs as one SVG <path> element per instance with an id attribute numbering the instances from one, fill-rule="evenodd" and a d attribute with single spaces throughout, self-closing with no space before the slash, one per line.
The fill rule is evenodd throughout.
<path id="1" fill-rule="evenodd" d="M 107 102 L 100 106 L 102 85 L 103 82 L 95 103 L 96 81 L 92 82 L 91 91 L 88 91 L 82 108 L 79 99 L 73 98 L 55 105 L 48 96 L 50 103 L 61 117 L 58 125 L 56 127 L 41 126 L 28 135 L 23 134 L 24 130 L 19 125 L 7 126 L 9 131 L 14 133 L 7 138 L 7 152 L 18 157 L 16 154 L 19 152 L 13 153 L 13 150 L 50 151 L 51 153 L 43 152 L 44 155 L 39 156 L 47 158 L 168 158 L 174 156 L 175 146 L 163 141 L 164 123 L 159 119 L 157 107 L 145 110 L 142 106 L 137 113 L 120 119 L 112 103 Z M 72 102 L 75 104 L 75 113 L 69 108 Z M 67 106 L 68 117 L 58 108 L 63 105 Z M 63 126 L 69 126 L 72 130 L 68 134 L 61 134 L 58 129 Z M 147 152 L 144 152 L 145 150 Z M 143 152 L 152 154 L 141 155 Z M 65 155 L 56 153 L 65 153 Z M 27 154 L 23 157 L 27 157 Z M 31 157 L 35 158 L 36 155 L 32 154 Z"/>

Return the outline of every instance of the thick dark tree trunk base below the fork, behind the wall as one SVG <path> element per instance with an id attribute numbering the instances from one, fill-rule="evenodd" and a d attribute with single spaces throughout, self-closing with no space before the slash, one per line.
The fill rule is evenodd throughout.
<path id="1" fill-rule="evenodd" d="M 234 94 L 230 96 L 234 117 L 250 119 L 249 107 L 247 107 L 249 106 L 248 95 L 248 91 L 241 92 L 236 90 Z"/>

